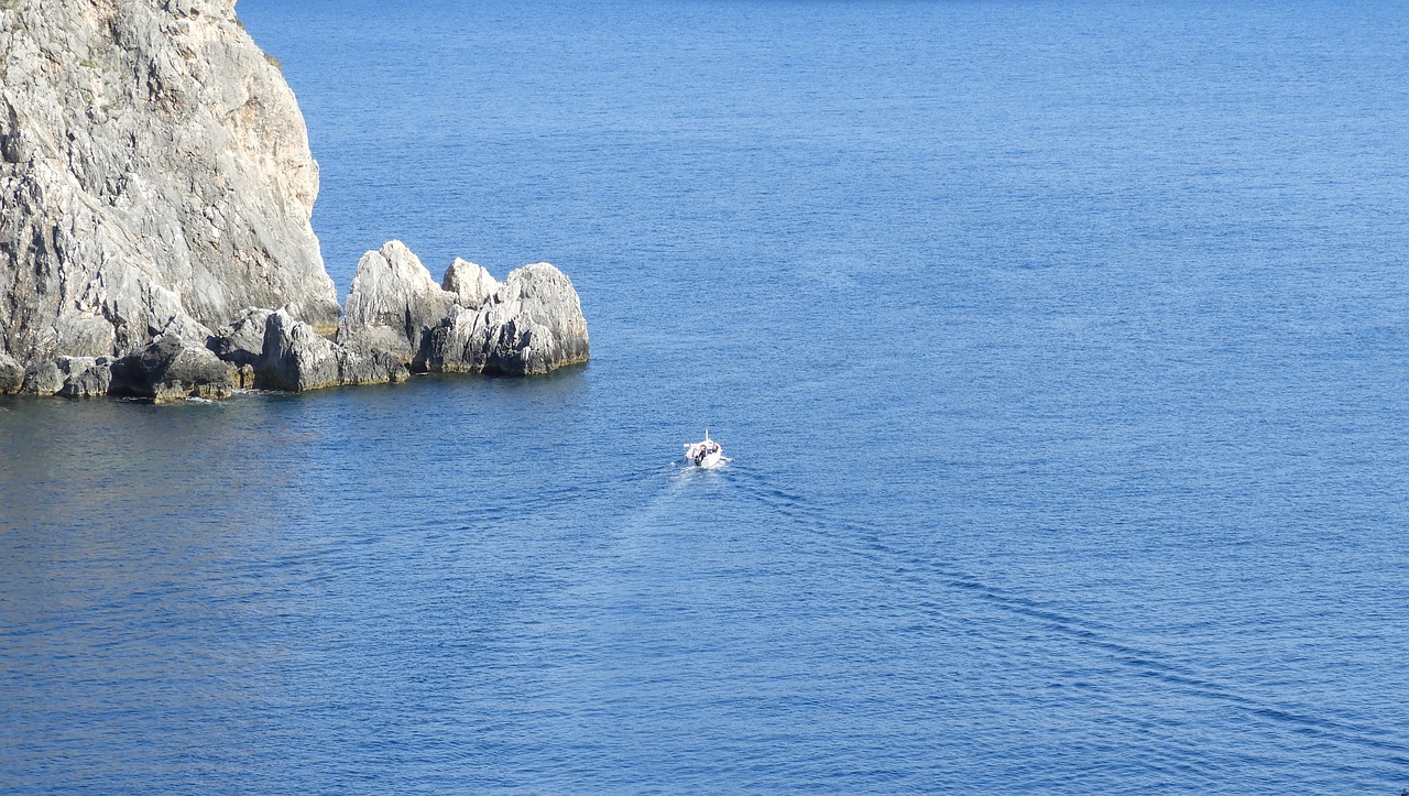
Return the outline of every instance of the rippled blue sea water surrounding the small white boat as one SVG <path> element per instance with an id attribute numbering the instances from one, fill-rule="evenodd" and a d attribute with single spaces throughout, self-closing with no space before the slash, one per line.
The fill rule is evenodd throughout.
<path id="1" fill-rule="evenodd" d="M 1409 788 L 1409 7 L 240 11 L 593 359 L 0 400 L 0 790 Z"/>

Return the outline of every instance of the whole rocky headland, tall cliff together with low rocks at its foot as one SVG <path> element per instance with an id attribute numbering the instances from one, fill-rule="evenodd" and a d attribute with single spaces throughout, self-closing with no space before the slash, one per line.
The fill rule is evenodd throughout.
<path id="1" fill-rule="evenodd" d="M 359 263 L 340 324 L 317 192 L 293 93 L 231 0 L 0 0 L 0 393 L 172 400 L 586 359 L 575 292 L 517 287 L 489 313 L 488 272 L 457 261 L 437 285 L 399 242 Z M 485 316 L 473 341 L 466 314 Z M 427 365 L 440 328 L 457 331 Z"/>

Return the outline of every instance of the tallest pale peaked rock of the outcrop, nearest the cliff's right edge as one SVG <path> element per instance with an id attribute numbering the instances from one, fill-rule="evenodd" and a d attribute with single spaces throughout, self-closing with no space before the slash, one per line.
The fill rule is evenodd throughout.
<path id="1" fill-rule="evenodd" d="M 454 304 L 455 294 L 431 279 L 406 244 L 387 241 L 358 261 L 337 341 L 358 352 L 387 351 L 411 363 Z"/>

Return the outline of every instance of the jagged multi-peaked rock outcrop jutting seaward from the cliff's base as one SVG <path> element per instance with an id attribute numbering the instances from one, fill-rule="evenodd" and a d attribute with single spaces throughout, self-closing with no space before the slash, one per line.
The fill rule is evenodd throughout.
<path id="1" fill-rule="evenodd" d="M 280 390 L 395 383 L 427 371 L 537 375 L 588 361 L 582 304 L 552 265 L 527 265 L 500 283 L 457 259 L 442 285 L 457 289 L 442 289 L 404 244 L 389 241 L 358 262 L 335 341 L 287 306 L 248 309 L 209 345 L 249 368 L 255 386 Z"/>

